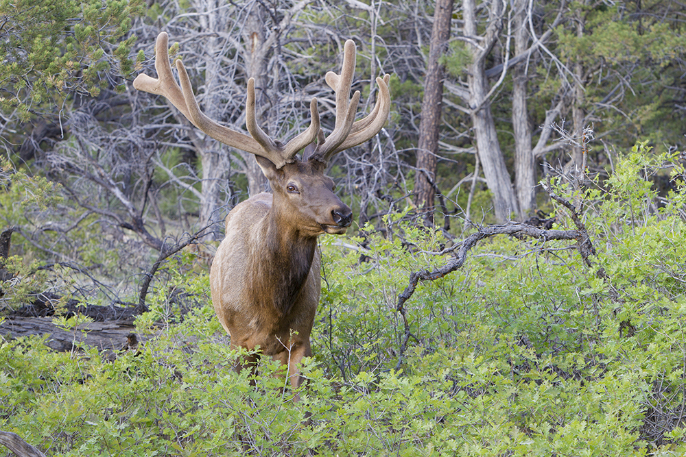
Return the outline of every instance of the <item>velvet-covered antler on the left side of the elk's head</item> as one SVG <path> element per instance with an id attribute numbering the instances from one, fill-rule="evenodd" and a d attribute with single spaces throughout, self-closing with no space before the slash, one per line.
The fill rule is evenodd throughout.
<path id="1" fill-rule="evenodd" d="M 161 32 L 155 44 L 155 69 L 158 78 L 145 74 L 138 75 L 133 82 L 134 88 L 155 95 L 163 95 L 202 132 L 230 147 L 268 158 L 276 165 L 276 168 L 293 162 L 293 158 L 300 149 L 316 140 L 320 130 L 316 99 L 312 99 L 310 103 L 312 119 L 305 132 L 292 138 L 285 145 L 267 136 L 255 121 L 255 81 L 252 78 L 248 80 L 248 102 L 246 103 L 246 127 L 252 138 L 209 119 L 198 106 L 198 101 L 193 95 L 191 80 L 180 60 L 176 60 L 176 69 L 181 86 L 179 87 L 176 83 L 171 73 L 171 65 L 169 65 L 168 44 L 167 33 Z"/>

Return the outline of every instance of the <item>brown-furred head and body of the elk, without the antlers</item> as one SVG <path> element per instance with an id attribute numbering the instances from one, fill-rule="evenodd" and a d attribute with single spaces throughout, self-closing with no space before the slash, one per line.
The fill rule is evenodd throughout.
<path id="1" fill-rule="evenodd" d="M 258 160 L 274 194 L 250 197 L 226 217 L 226 238 L 210 271 L 212 303 L 233 347 L 259 346 L 288 366 L 298 386 L 298 364 L 312 354 L 309 336 L 321 290 L 317 237 L 344 233 L 351 210 L 317 160 L 282 169 Z M 334 212 L 344 214 L 344 225 Z"/>

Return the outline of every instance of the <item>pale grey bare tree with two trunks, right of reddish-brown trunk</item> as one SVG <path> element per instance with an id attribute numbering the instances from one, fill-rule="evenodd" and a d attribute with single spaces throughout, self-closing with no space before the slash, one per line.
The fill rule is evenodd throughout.
<path id="1" fill-rule="evenodd" d="M 462 5 L 464 27 L 462 36 L 457 38 L 466 43 L 466 48 L 471 54 L 471 62 L 466 68 L 466 77 L 457 84 L 447 85 L 447 88 L 468 104 L 466 108 L 459 108 L 471 117 L 479 162 L 484 169 L 488 188 L 493 193 L 495 215 L 503 221 L 508 219 L 512 212 L 518 217 L 524 217 L 525 213 L 530 211 L 535 203 L 534 158 L 560 147 L 548 145 L 550 130 L 547 127 L 543 128 L 536 146 L 532 147 L 534 129 L 529 120 L 527 98 L 530 97 L 529 68 L 541 60 L 541 55 L 549 53 L 545 43 L 552 36 L 554 27 L 563 19 L 564 3 L 560 6 L 552 25 L 547 27 L 541 36 L 534 31 L 536 13 L 532 1 L 518 0 L 507 3 L 502 0 L 490 0 L 483 5 L 485 8 L 477 8 L 475 1 L 466 1 Z M 541 22 L 540 19 L 538 21 Z M 484 33 L 479 34 L 483 24 Z M 486 62 L 490 60 L 499 63 L 486 69 Z M 516 192 L 510 180 L 510 173 L 497 138 L 495 120 L 490 110 L 493 98 L 501 90 L 512 67 Z M 496 79 L 495 82 L 492 83 L 492 79 Z M 569 84 L 564 84 L 560 89 L 560 96 L 554 100 L 554 108 L 546 113 L 544 126 L 552 124 L 563 113 L 564 95 L 568 89 Z"/>

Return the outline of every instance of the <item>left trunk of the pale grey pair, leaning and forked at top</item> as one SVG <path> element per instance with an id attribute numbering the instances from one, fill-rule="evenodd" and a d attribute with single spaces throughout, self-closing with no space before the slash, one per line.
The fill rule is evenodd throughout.
<path id="1" fill-rule="evenodd" d="M 463 13 L 465 36 L 479 36 L 476 1 L 464 1 Z M 486 184 L 493 193 L 495 217 L 499 221 L 506 221 L 510 219 L 512 212 L 519 212 L 517 198 L 514 195 L 512 181 L 500 149 L 493 114 L 490 110 L 490 100 L 488 100 L 490 85 L 485 68 L 486 57 L 493 49 L 493 45 L 495 45 L 495 41 L 501 32 L 503 13 L 501 1 L 492 0 L 486 35 L 478 41 L 478 46 L 470 46 L 473 60 L 469 65 L 467 76 L 469 108 L 471 108 L 477 153 L 484 169 Z"/>

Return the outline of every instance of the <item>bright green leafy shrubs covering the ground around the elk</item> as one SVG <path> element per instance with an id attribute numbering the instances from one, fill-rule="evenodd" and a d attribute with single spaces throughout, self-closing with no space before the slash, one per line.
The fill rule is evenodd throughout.
<path id="1" fill-rule="evenodd" d="M 652 173 L 669 164 L 673 190 Z M 0 429 L 51 456 L 680 456 L 686 453 L 683 168 L 637 146 L 582 193 L 597 256 L 573 243 L 491 238 L 464 268 L 447 240 L 389 216 L 383 235 L 322 237 L 322 302 L 296 394 L 263 361 L 252 380 L 214 317 L 206 277 L 178 319 L 163 292 L 138 348 L 0 347 Z M 556 228 L 571 227 L 558 209 Z M 179 275 L 178 284 L 187 278 Z M 178 285 L 172 284 L 172 285 Z M 162 328 L 154 325 L 163 321 Z M 67 325 L 65 323 L 65 325 Z M 242 354 L 244 355 L 244 354 Z"/>

